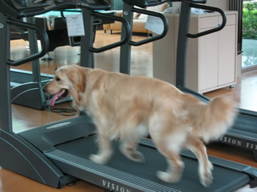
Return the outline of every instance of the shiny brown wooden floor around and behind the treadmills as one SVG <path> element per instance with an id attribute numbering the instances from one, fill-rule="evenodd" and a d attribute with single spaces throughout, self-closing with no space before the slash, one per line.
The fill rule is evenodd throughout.
<path id="1" fill-rule="evenodd" d="M 103 31 L 98 31 L 96 43 L 94 46 L 104 46 L 108 43 L 119 41 L 120 35 L 104 34 Z M 146 38 L 143 36 L 133 37 L 134 41 Z M 29 54 L 27 48 L 28 43 L 22 40 L 11 41 L 11 59 L 23 58 Z M 47 58 L 53 60 L 41 60 L 41 72 L 54 74 L 54 70 L 62 65 L 79 64 L 80 48 L 64 46 L 56 48 L 53 52 L 47 55 Z M 119 71 L 119 48 L 108 50 L 104 53 L 95 54 L 96 68 L 103 68 L 110 71 Z M 21 65 L 19 69 L 31 70 L 30 63 Z M 133 47 L 131 50 L 131 75 L 153 75 L 153 59 L 152 59 L 152 44 L 148 43 L 144 46 Z M 238 83 L 235 88 L 223 88 L 213 92 L 206 93 L 207 97 L 216 97 L 218 95 L 228 95 L 231 100 L 238 101 L 241 108 L 257 111 L 257 72 L 241 75 L 238 78 Z M 69 107 L 67 104 L 59 107 Z M 48 109 L 32 110 L 19 105 L 12 105 L 12 122 L 14 132 L 21 132 L 26 129 L 48 124 L 50 122 L 59 121 L 67 118 L 59 114 L 54 114 Z M 235 149 L 233 146 L 225 146 L 220 144 L 212 144 L 208 146 L 208 154 L 218 156 L 223 159 L 236 161 L 241 164 L 247 164 L 257 168 L 257 163 L 253 160 L 251 151 L 242 151 Z M 2 154 L 4 155 L 4 154 Z M 84 181 L 79 181 L 75 186 L 65 186 L 59 190 L 44 186 L 41 183 L 31 181 L 29 178 L 19 176 L 5 169 L 0 169 L 0 192 L 12 191 L 103 191 L 103 189 L 92 186 Z M 248 188 L 241 191 L 257 191 L 257 188 L 250 190 Z"/>

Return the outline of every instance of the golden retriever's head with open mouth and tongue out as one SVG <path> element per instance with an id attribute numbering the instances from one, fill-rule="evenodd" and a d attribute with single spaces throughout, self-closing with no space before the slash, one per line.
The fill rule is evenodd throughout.
<path id="1" fill-rule="evenodd" d="M 78 65 L 67 65 L 56 70 L 54 79 L 43 87 L 44 92 L 54 95 L 51 98 L 51 106 L 54 106 L 58 100 L 73 96 L 74 92 L 84 92 L 86 87 L 85 69 Z"/>

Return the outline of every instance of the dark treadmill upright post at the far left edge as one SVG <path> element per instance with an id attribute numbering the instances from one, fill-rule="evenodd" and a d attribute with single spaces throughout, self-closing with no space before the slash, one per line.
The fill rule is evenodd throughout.
<path id="1" fill-rule="evenodd" d="M 6 16 L 0 13 L 0 128 L 12 132 L 11 124 L 11 95 L 10 95 L 10 67 L 6 64 L 10 50 L 10 28 L 6 23 Z"/>

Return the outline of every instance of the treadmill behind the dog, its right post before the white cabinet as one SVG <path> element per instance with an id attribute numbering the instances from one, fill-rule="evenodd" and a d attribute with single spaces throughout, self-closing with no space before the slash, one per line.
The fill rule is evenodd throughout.
<path id="1" fill-rule="evenodd" d="M 131 1 L 126 1 L 126 5 L 124 9 L 129 9 L 131 11 L 138 11 L 139 13 L 143 13 L 143 11 L 136 10 L 131 6 Z M 147 4 L 151 4 L 154 1 L 149 1 Z M 178 46 L 177 46 L 177 55 L 176 55 L 176 87 L 183 92 L 194 95 L 198 97 L 198 99 L 203 100 L 203 102 L 209 102 L 210 99 L 201 95 L 198 92 L 190 90 L 186 87 L 186 55 L 187 55 L 187 44 L 188 38 L 198 38 L 201 36 L 208 35 L 209 33 L 213 33 L 215 31 L 219 31 L 226 25 L 226 16 L 220 9 L 211 6 L 203 6 L 201 4 L 196 3 L 204 3 L 203 0 L 196 1 L 182 1 L 181 2 L 181 15 L 179 23 L 179 32 L 178 32 Z M 138 6 L 143 7 L 143 4 L 138 3 Z M 208 31 L 203 31 L 197 34 L 188 33 L 188 27 L 190 23 L 190 14 L 191 7 L 197 9 L 205 9 L 208 11 L 217 11 L 223 17 L 223 23 L 221 26 L 217 28 L 213 28 Z M 125 17 L 128 21 L 133 22 L 132 18 Z M 141 45 L 141 44 L 139 44 Z M 130 51 L 131 46 L 138 46 L 137 43 L 130 41 L 126 43 L 124 46 L 121 46 L 121 73 L 130 74 Z M 239 114 L 235 120 L 235 123 L 228 129 L 223 137 L 219 139 L 219 142 L 223 144 L 230 144 L 236 147 L 240 147 L 243 149 L 253 151 L 253 158 L 257 161 L 257 112 L 250 110 L 239 109 Z"/>

